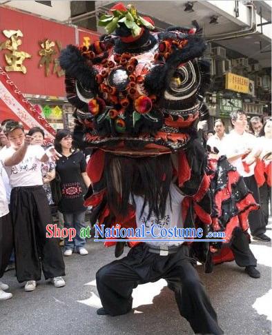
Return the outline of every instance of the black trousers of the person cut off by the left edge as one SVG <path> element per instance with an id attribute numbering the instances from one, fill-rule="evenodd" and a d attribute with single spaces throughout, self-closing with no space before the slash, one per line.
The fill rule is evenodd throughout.
<path id="1" fill-rule="evenodd" d="M 0 278 L 6 270 L 13 247 L 10 214 L 0 218 Z"/>

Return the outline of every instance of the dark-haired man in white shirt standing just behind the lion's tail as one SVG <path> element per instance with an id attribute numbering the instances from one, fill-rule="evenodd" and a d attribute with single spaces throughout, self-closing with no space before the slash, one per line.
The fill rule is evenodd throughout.
<path id="1" fill-rule="evenodd" d="M 258 157 L 258 141 L 255 136 L 246 132 L 246 113 L 237 110 L 231 113 L 233 130 L 224 137 L 220 148 L 220 155 L 226 155 L 229 162 L 237 168 L 237 172 L 244 177 L 244 182 L 253 192 L 256 203 L 260 203 L 258 185 L 254 177 L 255 159 Z M 253 162 L 253 163 L 252 163 Z M 264 234 L 266 225 L 261 210 L 249 214 L 249 227 L 254 239 L 269 242 L 271 239 Z"/>

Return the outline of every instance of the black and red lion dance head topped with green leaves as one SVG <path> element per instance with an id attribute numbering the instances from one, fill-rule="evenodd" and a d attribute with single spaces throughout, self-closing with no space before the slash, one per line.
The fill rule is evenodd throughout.
<path id="1" fill-rule="evenodd" d="M 88 47 L 68 45 L 68 101 L 75 106 L 75 139 L 82 148 L 128 156 L 186 148 L 193 123 L 208 115 L 209 64 L 196 28 L 153 32 L 153 21 L 121 3 L 99 21 L 108 32 Z"/>

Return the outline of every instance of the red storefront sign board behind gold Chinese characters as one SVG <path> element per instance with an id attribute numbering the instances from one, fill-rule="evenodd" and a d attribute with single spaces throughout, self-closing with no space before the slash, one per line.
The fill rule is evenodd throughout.
<path id="1" fill-rule="evenodd" d="M 3 32 L 4 30 L 6 35 Z M 6 66 L 8 66 L 6 57 L 10 57 L 12 51 L 8 50 L 8 44 L 3 45 L 3 43 L 8 40 L 11 41 L 12 37 L 7 37 L 7 31 L 8 36 L 10 36 L 12 30 L 14 31 L 13 38 L 15 41 L 21 40 L 21 45 L 17 43 L 18 52 L 26 52 L 26 58 L 21 61 L 22 68 L 26 68 L 26 74 L 23 74 L 22 71 L 7 71 L 6 69 Z M 43 43 L 43 47 L 41 43 L 46 40 L 48 40 L 48 43 L 54 42 L 55 47 L 51 48 L 54 48 L 55 54 L 52 55 L 52 59 L 57 59 L 59 56 L 57 45 L 65 48 L 68 44 L 77 44 L 77 41 L 81 45 L 84 42 L 84 37 L 90 38 L 90 41 L 93 42 L 95 39 L 99 39 L 99 34 L 0 7 L 0 45 L 2 45 L 0 66 L 8 72 L 10 79 L 16 83 L 24 94 L 65 97 L 64 77 L 58 77 L 57 73 L 53 73 L 55 66 L 53 61 L 47 64 L 48 77 L 46 77 L 46 60 L 48 61 L 48 59 L 42 59 L 41 54 L 46 53 L 46 47 L 45 43 Z M 12 57 L 16 57 L 16 52 L 13 51 Z M 31 55 L 31 58 L 29 55 Z M 41 66 L 39 66 L 40 64 Z"/>

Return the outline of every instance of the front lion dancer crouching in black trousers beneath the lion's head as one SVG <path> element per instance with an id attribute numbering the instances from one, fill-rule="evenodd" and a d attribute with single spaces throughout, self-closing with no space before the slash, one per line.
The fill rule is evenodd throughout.
<path id="1" fill-rule="evenodd" d="M 117 190 L 118 187 L 124 190 L 124 184 L 116 181 L 124 182 L 123 172 L 128 165 L 119 165 L 114 156 L 109 158 L 106 165 L 110 171 L 109 174 L 106 172 L 106 180 L 110 180 Z M 157 169 L 156 174 L 153 165 Z M 193 267 L 195 261 L 188 256 L 188 246 L 183 241 L 154 238 L 154 235 L 159 236 L 162 228 L 183 227 L 184 195 L 171 181 L 173 167 L 170 155 L 159 156 L 155 161 L 152 157 L 139 159 L 134 168 L 128 205 L 135 208 L 137 227 L 144 225 L 150 241 L 136 245 L 128 256 L 105 265 L 97 272 L 97 290 L 103 305 L 97 314 L 116 316 L 128 313 L 132 308 L 133 288 L 165 278 L 175 292 L 180 314 L 195 333 L 222 334 L 215 310 Z M 142 180 L 143 173 L 150 184 Z M 164 175 L 166 180 L 162 183 Z M 157 198 L 151 190 L 159 192 L 160 203 L 155 203 Z M 159 212 L 159 208 L 162 212 Z"/>

